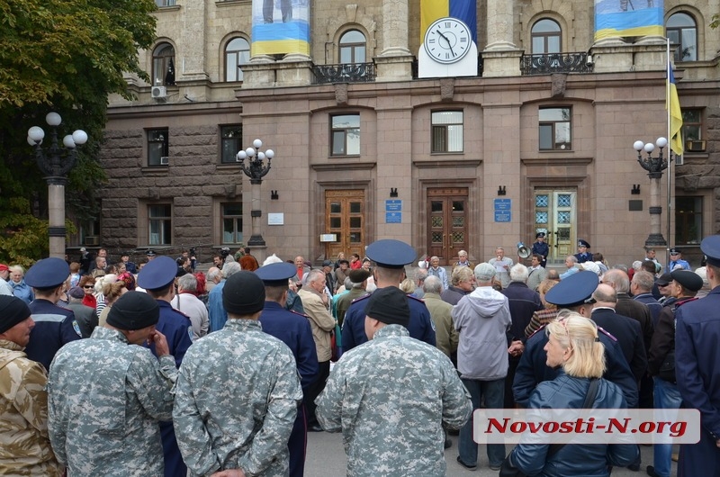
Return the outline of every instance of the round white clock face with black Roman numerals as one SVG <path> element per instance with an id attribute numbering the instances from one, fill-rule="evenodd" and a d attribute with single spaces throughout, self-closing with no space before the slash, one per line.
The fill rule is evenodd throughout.
<path id="1" fill-rule="evenodd" d="M 464 58 L 473 44 L 470 30 L 456 18 L 440 18 L 425 32 L 425 51 L 439 63 L 455 63 Z"/>

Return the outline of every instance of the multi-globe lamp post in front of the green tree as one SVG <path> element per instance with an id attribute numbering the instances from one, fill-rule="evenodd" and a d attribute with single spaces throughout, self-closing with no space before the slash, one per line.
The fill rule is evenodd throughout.
<path id="1" fill-rule="evenodd" d="M 65 184 L 67 173 L 75 166 L 77 159 L 76 146 L 87 142 L 87 133 L 76 130 L 62 139 L 63 146 L 58 146 L 58 126 L 62 118 L 57 112 L 49 112 L 45 116 L 51 128 L 52 140 L 48 148 L 42 148 L 45 131 L 39 126 L 28 130 L 28 144 L 35 148 L 35 161 L 40 167 L 43 177 L 48 182 L 48 233 L 50 257 L 65 257 Z"/>

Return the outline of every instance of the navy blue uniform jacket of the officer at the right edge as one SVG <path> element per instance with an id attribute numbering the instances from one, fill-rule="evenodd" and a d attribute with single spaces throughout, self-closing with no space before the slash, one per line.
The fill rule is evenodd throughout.
<path id="1" fill-rule="evenodd" d="M 700 410 L 700 442 L 680 446 L 678 475 L 720 475 L 720 286 L 675 311 L 675 375 L 682 407 Z"/>

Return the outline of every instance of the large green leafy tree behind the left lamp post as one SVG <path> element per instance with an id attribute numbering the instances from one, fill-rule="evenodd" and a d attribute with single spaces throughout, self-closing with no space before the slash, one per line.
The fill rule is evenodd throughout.
<path id="1" fill-rule="evenodd" d="M 66 187 L 80 219 L 99 212 L 98 160 L 108 94 L 131 94 L 125 74 L 145 80 L 138 50 L 155 40 L 153 0 L 0 0 L 0 261 L 27 264 L 48 253 L 48 187 L 27 142 L 45 114 L 58 133 L 85 130 L 87 144 Z"/>

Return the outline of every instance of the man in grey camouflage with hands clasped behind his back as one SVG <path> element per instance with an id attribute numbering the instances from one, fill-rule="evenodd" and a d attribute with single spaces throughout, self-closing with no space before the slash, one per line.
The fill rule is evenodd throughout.
<path id="1" fill-rule="evenodd" d="M 263 281 L 231 275 L 222 288 L 225 327 L 187 350 L 173 423 L 192 475 L 288 474 L 288 438 L 302 388 L 290 348 L 263 332 Z"/>

